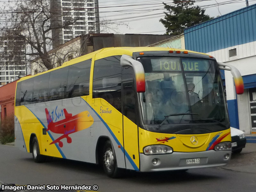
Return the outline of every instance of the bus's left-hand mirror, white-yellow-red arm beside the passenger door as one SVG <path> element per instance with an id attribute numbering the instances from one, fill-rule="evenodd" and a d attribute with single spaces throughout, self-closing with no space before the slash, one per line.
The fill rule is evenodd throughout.
<path id="1" fill-rule="evenodd" d="M 140 61 L 132 59 L 129 55 L 122 55 L 121 66 L 131 66 L 135 73 L 136 89 L 138 93 L 145 92 L 145 72 Z"/>

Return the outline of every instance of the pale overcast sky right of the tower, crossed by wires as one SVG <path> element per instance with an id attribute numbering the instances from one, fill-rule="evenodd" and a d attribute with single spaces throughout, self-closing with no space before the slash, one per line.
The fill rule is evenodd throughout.
<path id="1" fill-rule="evenodd" d="M 99 0 L 100 20 L 109 22 L 101 26 L 101 32 L 119 34 L 164 34 L 164 5 L 172 0 Z M 249 5 L 256 0 L 248 0 Z M 245 0 L 196 0 L 194 5 L 205 9 L 211 17 L 233 12 L 246 7 Z M 103 23 L 104 23 L 103 22 Z"/>

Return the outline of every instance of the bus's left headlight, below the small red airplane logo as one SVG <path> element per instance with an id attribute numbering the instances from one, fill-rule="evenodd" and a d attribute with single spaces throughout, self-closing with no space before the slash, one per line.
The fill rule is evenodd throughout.
<path id="1" fill-rule="evenodd" d="M 166 145 L 149 145 L 143 148 L 145 155 L 156 155 L 156 154 L 170 154 L 173 152 L 172 148 Z"/>

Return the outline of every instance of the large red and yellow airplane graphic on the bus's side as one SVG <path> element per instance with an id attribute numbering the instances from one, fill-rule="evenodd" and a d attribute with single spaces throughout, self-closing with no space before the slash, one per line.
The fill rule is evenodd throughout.
<path id="1" fill-rule="evenodd" d="M 71 143 L 72 139 L 68 135 L 74 132 L 81 131 L 90 127 L 93 124 L 93 118 L 88 111 L 83 111 L 72 116 L 72 113 L 68 113 L 66 109 L 63 109 L 65 119 L 62 119 L 57 122 L 53 122 L 52 117 L 49 114 L 47 108 L 45 108 L 46 119 L 48 122 L 48 129 L 46 131 L 52 131 L 54 133 L 63 134 L 56 140 L 50 143 L 58 143 L 60 147 L 63 147 L 63 142 L 60 141 L 63 138 L 67 138 L 67 142 Z"/>

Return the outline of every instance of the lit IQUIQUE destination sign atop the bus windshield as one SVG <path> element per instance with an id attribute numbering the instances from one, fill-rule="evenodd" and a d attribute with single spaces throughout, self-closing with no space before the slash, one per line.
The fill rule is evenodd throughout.
<path id="1" fill-rule="evenodd" d="M 208 71 L 210 62 L 204 59 L 182 59 L 184 71 Z M 153 71 L 181 71 L 178 58 L 152 58 L 151 65 Z"/>

